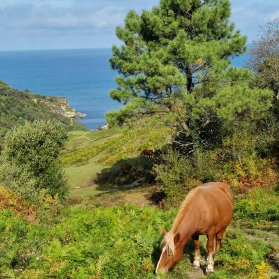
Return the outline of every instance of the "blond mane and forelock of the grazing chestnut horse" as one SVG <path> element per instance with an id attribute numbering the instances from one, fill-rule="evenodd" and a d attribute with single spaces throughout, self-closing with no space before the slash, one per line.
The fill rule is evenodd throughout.
<path id="1" fill-rule="evenodd" d="M 197 193 L 197 190 L 199 190 L 199 187 L 191 190 L 188 193 L 188 195 L 186 196 L 186 198 L 184 199 L 183 203 L 180 206 L 179 213 L 177 213 L 177 216 L 174 219 L 174 223 L 172 223 L 172 229 L 170 229 L 170 231 L 167 232 L 167 234 L 165 234 L 163 238 L 161 245 L 165 244 L 165 248 L 167 249 L 167 255 L 175 254 L 174 236 L 175 236 L 176 229 L 181 223 L 183 217 L 185 216 L 185 213 L 189 208 L 190 202 L 192 202 L 192 199 L 195 196 L 195 193 Z"/>

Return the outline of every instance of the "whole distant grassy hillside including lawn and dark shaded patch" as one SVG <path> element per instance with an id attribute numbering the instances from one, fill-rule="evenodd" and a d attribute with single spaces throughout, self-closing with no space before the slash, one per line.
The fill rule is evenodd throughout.
<path id="1" fill-rule="evenodd" d="M 98 131 L 68 133 L 62 161 L 68 176 L 70 195 L 92 195 L 123 190 L 137 179 L 148 180 L 149 158 L 143 149 L 158 149 L 172 137 L 172 129 L 158 116 L 136 123 Z"/>

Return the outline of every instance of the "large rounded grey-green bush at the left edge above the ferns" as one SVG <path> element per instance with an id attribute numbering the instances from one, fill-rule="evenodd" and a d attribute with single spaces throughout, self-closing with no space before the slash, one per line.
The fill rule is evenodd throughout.
<path id="1" fill-rule="evenodd" d="M 55 121 L 34 121 L 10 130 L 0 170 L 3 185 L 29 199 L 43 188 L 64 197 L 67 187 L 59 153 L 65 140 L 66 130 Z"/>

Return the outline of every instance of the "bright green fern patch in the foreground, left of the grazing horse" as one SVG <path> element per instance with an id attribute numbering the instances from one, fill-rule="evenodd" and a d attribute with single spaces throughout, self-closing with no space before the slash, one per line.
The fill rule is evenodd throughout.
<path id="1" fill-rule="evenodd" d="M 153 278 L 152 253 L 160 243 L 160 226 L 164 220 L 170 225 L 174 217 L 135 206 L 64 214 L 61 223 L 44 228 L 2 211 L 2 275 L 12 269 L 17 278 L 33 273 L 40 278 Z"/>

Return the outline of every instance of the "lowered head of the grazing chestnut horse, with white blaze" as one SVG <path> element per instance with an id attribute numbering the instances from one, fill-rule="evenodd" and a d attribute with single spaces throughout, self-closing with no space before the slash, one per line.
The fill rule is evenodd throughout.
<path id="1" fill-rule="evenodd" d="M 161 243 L 161 256 L 156 267 L 156 274 L 171 271 L 183 257 L 183 244 L 179 233 L 167 232 L 162 229 L 164 238 Z"/>

